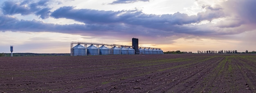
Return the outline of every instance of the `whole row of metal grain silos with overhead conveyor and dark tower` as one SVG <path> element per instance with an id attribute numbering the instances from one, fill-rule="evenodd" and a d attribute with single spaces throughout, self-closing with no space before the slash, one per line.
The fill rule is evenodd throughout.
<path id="1" fill-rule="evenodd" d="M 73 47 L 74 44 L 77 44 L 77 45 Z M 161 50 L 161 48 L 139 47 L 139 39 L 136 39 L 136 38 L 132 38 L 132 45 L 117 45 L 117 44 L 87 43 L 87 42 L 71 42 L 70 43 L 71 56 L 110 55 L 110 54 L 111 55 L 119 55 L 119 54 L 128 55 L 128 54 L 164 54 L 164 53 Z"/>

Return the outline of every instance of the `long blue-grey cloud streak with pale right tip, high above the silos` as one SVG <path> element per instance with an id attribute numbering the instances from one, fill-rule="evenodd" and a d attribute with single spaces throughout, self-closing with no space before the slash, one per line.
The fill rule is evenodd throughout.
<path id="1" fill-rule="evenodd" d="M 182 25 L 223 17 L 223 13 L 222 11 L 207 10 L 192 16 L 179 12 L 173 15 L 154 15 L 145 14 L 138 10 L 99 11 L 93 9 L 74 9 L 72 6 L 64 6 L 53 11 L 50 16 L 56 19 L 74 19 L 85 24 L 125 24 L 128 26 L 142 26 L 144 28 L 167 32 L 193 33 L 191 30 L 195 28 L 187 28 Z"/>

